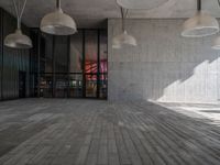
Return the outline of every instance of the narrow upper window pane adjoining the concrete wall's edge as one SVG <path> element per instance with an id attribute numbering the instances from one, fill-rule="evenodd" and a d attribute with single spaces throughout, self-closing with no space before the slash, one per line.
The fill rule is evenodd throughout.
<path id="1" fill-rule="evenodd" d="M 108 36 L 107 31 L 100 32 L 100 73 L 107 73 L 107 53 L 108 53 Z"/>

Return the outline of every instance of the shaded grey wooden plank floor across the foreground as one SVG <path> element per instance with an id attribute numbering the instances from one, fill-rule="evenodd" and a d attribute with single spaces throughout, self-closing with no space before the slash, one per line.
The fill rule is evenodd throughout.
<path id="1" fill-rule="evenodd" d="M 220 127 L 150 102 L 0 102 L 0 165 L 220 165 Z"/>

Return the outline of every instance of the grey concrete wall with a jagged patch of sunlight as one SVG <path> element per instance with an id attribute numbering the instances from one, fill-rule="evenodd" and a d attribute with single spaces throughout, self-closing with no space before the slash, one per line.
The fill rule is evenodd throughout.
<path id="1" fill-rule="evenodd" d="M 128 20 L 138 47 L 112 50 L 121 21 L 109 20 L 109 99 L 167 102 L 217 102 L 220 52 L 215 36 L 183 38 L 184 20 Z"/>

